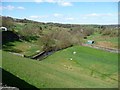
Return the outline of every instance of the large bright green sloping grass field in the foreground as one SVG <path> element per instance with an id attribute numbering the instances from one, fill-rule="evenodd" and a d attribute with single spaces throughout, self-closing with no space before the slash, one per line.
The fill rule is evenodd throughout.
<path id="1" fill-rule="evenodd" d="M 42 61 L 3 51 L 2 62 L 4 70 L 37 88 L 118 87 L 118 54 L 89 47 L 67 48 Z"/>

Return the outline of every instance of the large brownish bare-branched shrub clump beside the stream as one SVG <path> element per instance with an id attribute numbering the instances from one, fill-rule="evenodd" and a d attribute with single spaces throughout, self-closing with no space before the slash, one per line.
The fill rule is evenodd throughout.
<path id="1" fill-rule="evenodd" d="M 53 30 L 42 37 L 44 51 L 59 50 L 78 43 L 78 38 L 67 30 Z"/>

